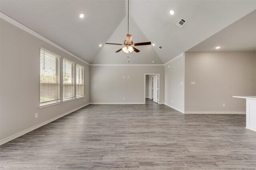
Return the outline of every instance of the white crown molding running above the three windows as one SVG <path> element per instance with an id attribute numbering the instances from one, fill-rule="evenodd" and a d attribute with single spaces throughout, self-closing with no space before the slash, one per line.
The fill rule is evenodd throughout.
<path id="1" fill-rule="evenodd" d="M 14 20 L 13 18 L 7 16 L 6 14 L 0 12 L 0 18 L 2 18 L 3 20 L 11 23 L 12 25 L 15 25 L 16 27 L 26 31 L 27 33 L 30 33 L 31 35 L 34 35 L 35 37 L 41 39 L 42 41 L 56 47 L 57 49 L 63 51 L 64 53 L 67 53 L 68 55 L 74 57 L 75 59 L 78 59 L 79 61 L 82 61 L 85 64 L 90 65 L 89 63 L 87 63 L 86 61 L 84 61 L 83 59 L 80 59 L 79 57 L 77 57 L 76 55 L 70 53 L 69 51 L 67 51 L 66 49 L 60 47 L 59 45 L 55 44 L 54 42 L 50 41 L 49 39 L 47 39 L 46 37 L 43 37 L 42 35 L 36 33 L 35 31 L 33 31 L 32 29 L 26 27 L 25 25 L 23 25 L 22 23 Z"/>

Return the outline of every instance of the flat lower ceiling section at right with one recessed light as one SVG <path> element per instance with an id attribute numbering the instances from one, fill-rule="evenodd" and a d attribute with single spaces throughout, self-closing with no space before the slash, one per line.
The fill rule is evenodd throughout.
<path id="1" fill-rule="evenodd" d="M 219 51 L 256 51 L 256 10 L 186 52 Z"/>

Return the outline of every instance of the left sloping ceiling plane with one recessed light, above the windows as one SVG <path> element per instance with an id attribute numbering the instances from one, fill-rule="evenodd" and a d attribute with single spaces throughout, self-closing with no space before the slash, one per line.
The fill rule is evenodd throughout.
<path id="1" fill-rule="evenodd" d="M 1 0 L 0 11 L 91 63 L 126 15 L 125 1 Z M 79 18 L 84 13 L 84 18 Z"/>

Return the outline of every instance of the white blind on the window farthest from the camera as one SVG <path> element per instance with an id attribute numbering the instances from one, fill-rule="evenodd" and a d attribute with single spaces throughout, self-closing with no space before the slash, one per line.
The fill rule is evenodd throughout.
<path id="1" fill-rule="evenodd" d="M 76 97 L 84 96 L 84 67 L 76 64 Z"/>

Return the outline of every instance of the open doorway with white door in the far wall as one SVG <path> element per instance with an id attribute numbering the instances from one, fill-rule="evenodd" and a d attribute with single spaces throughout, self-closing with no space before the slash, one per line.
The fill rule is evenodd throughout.
<path id="1" fill-rule="evenodd" d="M 144 104 L 158 104 L 160 98 L 160 74 L 144 74 Z"/>

